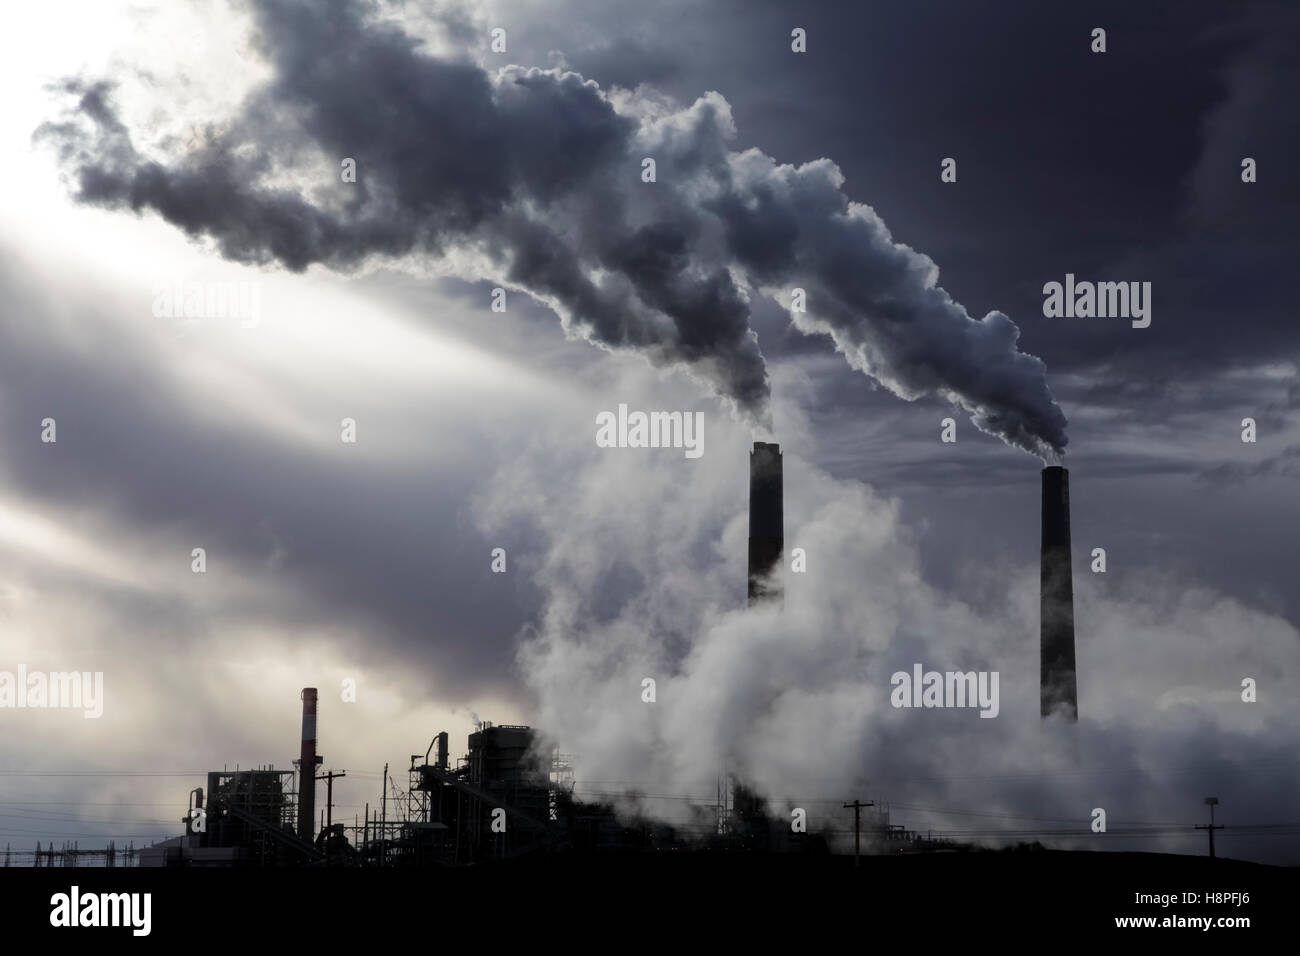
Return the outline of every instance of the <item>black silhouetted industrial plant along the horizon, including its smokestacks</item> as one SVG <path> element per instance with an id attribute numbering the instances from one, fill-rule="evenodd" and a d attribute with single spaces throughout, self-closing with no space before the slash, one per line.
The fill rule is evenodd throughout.
<path id="1" fill-rule="evenodd" d="M 1069 472 L 1061 466 L 1048 466 L 1041 479 L 1041 717 L 1072 724 L 1078 721 L 1079 701 Z M 781 613 L 783 457 L 775 442 L 753 445 L 749 499 L 748 605 Z M 35 853 L 17 855 L 20 865 L 31 856 L 34 865 L 46 868 L 464 868 L 507 865 L 507 861 L 529 865 L 541 861 L 563 868 L 566 861 L 592 858 L 634 857 L 641 861 L 637 866 L 642 866 L 656 856 L 714 861 L 741 856 L 751 861 L 823 860 L 823 865 L 835 866 L 844 861 L 844 855 L 835 851 L 850 845 L 857 866 L 859 853 L 876 860 L 952 853 L 998 856 L 979 852 L 982 847 L 976 844 L 982 839 L 1018 840 L 1020 848 L 1037 851 L 1035 856 L 1041 858 L 1052 852 L 1043 851 L 1040 838 L 1079 832 L 1078 827 L 910 831 L 890 822 L 889 804 L 879 795 L 858 793 L 842 795 L 846 801 L 842 806 L 853 810 L 852 829 L 829 829 L 824 822 L 819 827 L 792 826 L 788 817 L 770 810 L 755 787 L 724 771 L 711 803 L 696 799 L 686 814 L 689 822 L 668 823 L 645 813 L 629 814 L 627 803 L 616 805 L 616 799 L 627 793 L 577 791 L 572 758 L 545 743 L 543 734 L 528 726 L 490 722 L 478 723 L 468 736 L 464 754 L 455 760 L 448 734 L 436 734 L 422 754 L 411 754 L 406 787 L 394 782 L 385 765 L 381 792 L 365 805 L 364 814 L 356 814 L 352 822 L 337 822 L 334 780 L 346 777 L 346 771 L 318 773 L 324 758 L 317 749 L 317 689 L 303 688 L 300 698 L 302 736 L 294 769 L 268 765 L 209 771 L 205 786 L 190 791 L 178 817 L 185 832 L 176 838 L 125 851 L 113 847 L 82 851 L 75 844 L 56 851 L 53 843 L 44 849 L 38 844 Z M 321 783 L 324 806 L 318 803 Z M 863 796 L 876 799 L 863 800 Z M 835 816 L 833 810 L 829 817 L 823 814 L 823 821 Z M 1240 830 L 1273 832 L 1277 826 L 1280 825 Z M 1214 825 L 1213 817 L 1208 827 L 1153 826 L 1130 835 L 1156 838 L 1190 829 L 1208 831 L 1213 857 L 1214 831 L 1223 829 Z M 1101 856 L 1123 866 L 1131 866 L 1134 857 Z M 6 849 L 6 866 L 10 857 L 12 851 Z M 1005 860 L 1001 865 L 1005 868 Z M 945 871 L 952 875 L 952 870 Z"/>

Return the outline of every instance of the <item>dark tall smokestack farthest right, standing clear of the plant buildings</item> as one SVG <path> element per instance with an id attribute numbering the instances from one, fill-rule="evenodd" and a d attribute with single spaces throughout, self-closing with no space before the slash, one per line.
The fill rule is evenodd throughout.
<path id="1" fill-rule="evenodd" d="M 1043 717 L 1056 710 L 1079 719 L 1074 670 L 1074 581 L 1070 563 L 1070 472 L 1060 464 L 1043 470 L 1043 564 L 1040 579 Z"/>

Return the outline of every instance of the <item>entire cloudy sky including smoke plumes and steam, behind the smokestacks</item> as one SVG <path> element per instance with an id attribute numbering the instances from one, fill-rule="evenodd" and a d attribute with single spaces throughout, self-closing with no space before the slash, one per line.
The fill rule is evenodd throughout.
<path id="1" fill-rule="evenodd" d="M 1300 17 L 849 7 L 10 12 L 0 671 L 105 698 L 0 710 L 0 842 L 176 834 L 203 771 L 290 765 L 304 685 L 348 819 L 490 719 L 675 819 L 725 766 L 814 826 L 1300 823 Z M 1067 273 L 1150 325 L 1045 317 Z M 220 284 L 256 321 L 160 308 Z M 703 455 L 597 447 L 620 403 Z M 780 614 L 742 613 L 755 437 L 809 554 Z M 1037 715 L 1062 451 L 1076 727 Z M 890 708 L 918 662 L 998 671 L 998 717 Z"/>

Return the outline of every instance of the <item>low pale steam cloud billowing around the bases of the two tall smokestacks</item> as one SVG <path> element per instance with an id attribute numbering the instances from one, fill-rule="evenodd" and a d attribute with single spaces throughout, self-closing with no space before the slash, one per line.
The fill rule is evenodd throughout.
<path id="1" fill-rule="evenodd" d="M 848 827 L 850 852 L 854 797 L 888 801 L 893 823 L 922 832 L 1088 849 L 1202 853 L 1192 825 L 1210 793 L 1236 825 L 1295 819 L 1300 701 L 1240 696 L 1244 675 L 1295 679 L 1287 620 L 1157 568 L 1124 587 L 1082 575 L 1080 722 L 1044 722 L 1036 553 L 998 564 L 991 600 L 971 604 L 927 583 L 897 502 L 786 451 L 786 540 L 809 570 L 786 574 L 783 610 L 745 607 L 734 497 L 748 444 L 723 431 L 710 454 L 734 467 L 684 471 L 573 455 L 556 427 L 521 441 L 482 490 L 486 531 L 523 519 L 545 542 L 526 564 L 547 605 L 520 665 L 534 723 L 575 754 L 581 795 L 692 829 L 711 822 L 699 808 L 725 771 L 776 819 L 803 808 L 815 830 Z M 520 489 L 543 483 L 558 490 L 538 510 Z M 1223 635 L 1251 635 L 1248 650 Z M 892 706 L 890 675 L 915 663 L 997 671 L 996 719 Z M 1089 831 L 1098 806 L 1104 838 Z M 1138 823 L 1161 826 L 1128 832 Z M 1266 829 L 1225 834 L 1226 856 L 1295 860 Z"/>

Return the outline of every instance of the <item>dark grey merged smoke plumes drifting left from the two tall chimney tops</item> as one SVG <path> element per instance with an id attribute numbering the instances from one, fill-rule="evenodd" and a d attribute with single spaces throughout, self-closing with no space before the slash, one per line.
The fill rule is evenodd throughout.
<path id="1" fill-rule="evenodd" d="M 972 320 L 928 258 L 849 202 L 829 160 L 732 152 L 720 95 L 670 111 L 575 73 L 439 59 L 361 0 L 252 7 L 272 79 L 202 150 L 155 161 L 108 86 L 68 83 L 78 108 L 39 135 L 82 202 L 157 212 L 239 261 L 426 258 L 503 280 L 601 347 L 689 369 L 762 427 L 770 389 L 746 286 L 803 287 L 798 328 L 829 333 L 896 394 L 942 397 L 1034 454 L 1063 450 L 1065 415 L 1015 325 Z M 329 172 L 286 176 L 312 151 Z M 337 182 L 342 157 L 355 183 Z M 290 178 L 317 185 L 308 195 Z"/>

